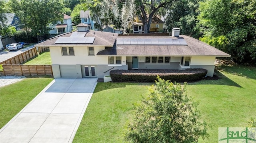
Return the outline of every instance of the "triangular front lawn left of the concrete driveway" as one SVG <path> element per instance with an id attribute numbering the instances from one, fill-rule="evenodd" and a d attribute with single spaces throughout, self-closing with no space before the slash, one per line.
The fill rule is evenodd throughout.
<path id="1" fill-rule="evenodd" d="M 22 110 L 53 78 L 25 78 L 0 87 L 0 128 Z"/>

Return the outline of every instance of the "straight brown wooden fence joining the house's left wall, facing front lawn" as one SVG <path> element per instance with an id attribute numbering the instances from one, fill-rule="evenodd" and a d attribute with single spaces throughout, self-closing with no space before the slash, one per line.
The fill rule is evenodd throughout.
<path id="1" fill-rule="evenodd" d="M 52 74 L 52 65 L 3 65 L 0 76 L 38 76 Z"/>

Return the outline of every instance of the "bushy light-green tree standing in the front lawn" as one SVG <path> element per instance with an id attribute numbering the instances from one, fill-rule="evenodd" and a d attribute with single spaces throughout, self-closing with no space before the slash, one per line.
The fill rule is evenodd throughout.
<path id="1" fill-rule="evenodd" d="M 186 95 L 180 85 L 158 76 L 150 94 L 136 108 L 134 121 L 128 125 L 126 140 L 134 143 L 197 143 L 207 137 L 206 123 L 201 121 L 197 102 Z"/>

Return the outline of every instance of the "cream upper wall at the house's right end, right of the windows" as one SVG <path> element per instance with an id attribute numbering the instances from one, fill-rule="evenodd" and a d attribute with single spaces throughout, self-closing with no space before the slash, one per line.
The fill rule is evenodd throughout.
<path id="1" fill-rule="evenodd" d="M 215 57 L 191 57 L 190 65 L 214 65 Z"/>

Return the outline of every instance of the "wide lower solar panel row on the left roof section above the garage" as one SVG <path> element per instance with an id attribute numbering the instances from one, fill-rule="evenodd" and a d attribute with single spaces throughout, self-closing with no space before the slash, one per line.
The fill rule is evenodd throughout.
<path id="1" fill-rule="evenodd" d="M 92 44 L 95 37 L 59 37 L 55 44 Z"/>

